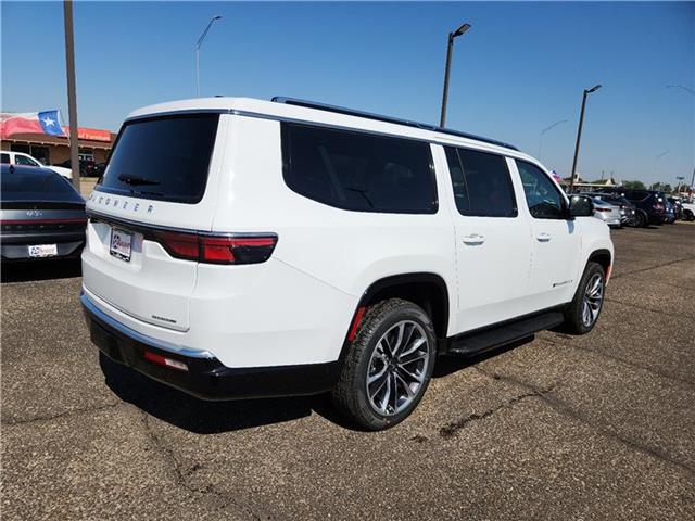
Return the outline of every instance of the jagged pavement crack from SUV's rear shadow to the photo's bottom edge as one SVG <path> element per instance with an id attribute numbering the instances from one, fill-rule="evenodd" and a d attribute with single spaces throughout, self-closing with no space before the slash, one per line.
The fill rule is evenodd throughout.
<path id="1" fill-rule="evenodd" d="M 193 475 L 198 470 L 202 468 L 200 463 L 194 463 L 190 469 L 184 469 L 180 461 L 174 454 L 170 447 L 168 447 L 164 441 L 156 434 L 152 425 L 150 424 L 149 415 L 147 412 L 142 412 L 142 424 L 144 428 L 144 432 L 147 433 L 151 445 L 157 450 L 168 465 L 172 470 L 174 482 L 177 486 L 188 491 L 191 494 L 200 495 L 202 497 L 211 497 L 214 499 L 220 509 L 226 509 L 229 505 L 233 506 L 238 513 L 248 519 L 253 520 L 268 520 L 269 516 L 258 514 L 254 510 L 252 510 L 248 505 L 244 505 L 238 501 L 235 497 L 229 494 L 225 494 L 223 492 L 217 491 L 212 483 L 208 483 L 205 486 L 195 486 L 189 483 L 188 479 Z"/>

